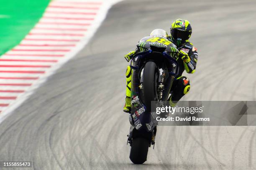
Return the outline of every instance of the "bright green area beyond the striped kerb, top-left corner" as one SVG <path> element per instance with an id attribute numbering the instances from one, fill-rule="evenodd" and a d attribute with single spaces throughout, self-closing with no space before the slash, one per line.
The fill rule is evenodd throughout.
<path id="1" fill-rule="evenodd" d="M 0 0 L 0 55 L 12 49 L 38 22 L 50 0 Z"/>

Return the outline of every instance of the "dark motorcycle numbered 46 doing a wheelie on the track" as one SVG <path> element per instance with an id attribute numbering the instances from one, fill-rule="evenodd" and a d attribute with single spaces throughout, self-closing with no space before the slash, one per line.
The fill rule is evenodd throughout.
<path id="1" fill-rule="evenodd" d="M 155 145 L 156 112 L 151 112 L 151 101 L 166 101 L 179 65 L 175 57 L 176 45 L 164 36 L 142 38 L 137 53 L 131 60 L 131 124 L 127 144 L 131 146 L 130 160 L 143 164 L 148 148 Z M 153 148 L 154 149 L 154 148 Z"/>

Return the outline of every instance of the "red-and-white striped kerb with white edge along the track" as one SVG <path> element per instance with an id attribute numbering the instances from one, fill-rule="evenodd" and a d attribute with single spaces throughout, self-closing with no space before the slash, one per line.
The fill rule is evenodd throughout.
<path id="1" fill-rule="evenodd" d="M 20 45 L 0 57 L 0 123 L 74 57 L 121 0 L 54 0 Z"/>

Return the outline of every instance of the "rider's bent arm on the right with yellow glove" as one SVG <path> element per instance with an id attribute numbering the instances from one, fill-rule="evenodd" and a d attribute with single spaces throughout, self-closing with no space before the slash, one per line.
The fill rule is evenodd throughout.
<path id="1" fill-rule="evenodd" d="M 182 52 L 184 55 L 182 56 L 182 60 L 184 63 L 184 67 L 187 73 L 194 73 L 197 65 L 197 49 L 193 47 L 191 50 L 189 50 L 188 53 Z"/>

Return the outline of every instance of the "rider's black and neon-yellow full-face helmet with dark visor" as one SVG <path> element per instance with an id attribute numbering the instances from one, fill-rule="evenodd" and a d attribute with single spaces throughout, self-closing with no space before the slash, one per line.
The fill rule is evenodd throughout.
<path id="1" fill-rule="evenodd" d="M 171 35 L 177 45 L 182 45 L 192 34 L 192 27 L 188 20 L 177 19 L 172 23 Z"/>

